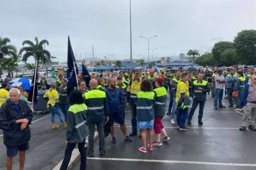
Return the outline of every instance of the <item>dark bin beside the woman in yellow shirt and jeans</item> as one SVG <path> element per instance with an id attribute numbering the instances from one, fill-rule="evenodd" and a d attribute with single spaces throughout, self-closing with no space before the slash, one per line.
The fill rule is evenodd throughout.
<path id="1" fill-rule="evenodd" d="M 43 111 L 43 114 L 48 111 L 47 109 L 47 102 L 48 102 L 48 97 L 47 98 L 43 98 L 43 95 L 46 93 L 47 91 L 45 90 L 41 90 L 38 91 L 38 96 L 37 96 L 37 104 L 33 105 L 33 109 L 34 109 L 34 114 L 36 114 L 37 111 Z"/>

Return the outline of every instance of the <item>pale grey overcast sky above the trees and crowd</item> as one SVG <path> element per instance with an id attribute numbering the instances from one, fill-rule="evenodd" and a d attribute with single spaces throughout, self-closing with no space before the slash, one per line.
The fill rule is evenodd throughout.
<path id="1" fill-rule="evenodd" d="M 0 0 L 0 35 L 18 49 L 22 41 L 47 39 L 46 49 L 67 61 L 68 35 L 74 53 L 130 58 L 129 0 Z M 256 0 L 131 0 L 133 58 L 159 57 L 198 49 L 256 28 Z M 151 53 L 151 52 L 150 52 Z M 29 60 L 32 62 L 33 60 Z"/>

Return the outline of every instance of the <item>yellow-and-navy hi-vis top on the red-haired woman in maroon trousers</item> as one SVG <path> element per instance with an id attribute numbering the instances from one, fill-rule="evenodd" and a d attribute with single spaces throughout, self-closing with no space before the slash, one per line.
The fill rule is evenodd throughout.
<path id="1" fill-rule="evenodd" d="M 153 92 L 155 92 L 155 115 L 164 116 L 167 100 L 166 89 L 164 87 L 157 87 Z"/>

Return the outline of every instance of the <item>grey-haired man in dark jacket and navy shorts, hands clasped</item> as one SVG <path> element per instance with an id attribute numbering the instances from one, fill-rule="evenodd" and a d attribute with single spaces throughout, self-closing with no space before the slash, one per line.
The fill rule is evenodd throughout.
<path id="1" fill-rule="evenodd" d="M 0 129 L 7 148 L 6 170 L 12 169 L 12 160 L 19 152 L 19 170 L 24 170 L 25 154 L 31 137 L 29 124 L 33 114 L 26 101 L 19 100 L 17 88 L 10 89 L 9 99 L 0 109 Z"/>

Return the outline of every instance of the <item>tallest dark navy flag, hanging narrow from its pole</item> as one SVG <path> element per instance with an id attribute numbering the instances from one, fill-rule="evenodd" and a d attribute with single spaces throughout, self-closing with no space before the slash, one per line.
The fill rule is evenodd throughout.
<path id="1" fill-rule="evenodd" d="M 75 62 L 75 68 L 74 68 L 73 62 Z M 72 90 L 74 90 L 74 87 L 77 87 L 77 79 L 76 79 L 75 70 L 76 70 L 76 73 L 78 74 L 76 59 L 75 59 L 75 56 L 74 56 L 74 53 L 72 50 L 69 36 L 68 36 L 68 63 L 67 64 L 68 64 L 68 67 L 67 67 L 67 94 L 69 96 L 69 94 L 72 92 Z"/>

